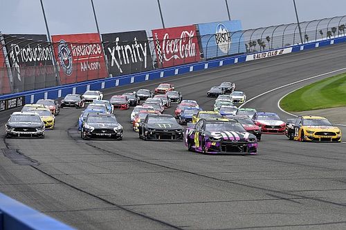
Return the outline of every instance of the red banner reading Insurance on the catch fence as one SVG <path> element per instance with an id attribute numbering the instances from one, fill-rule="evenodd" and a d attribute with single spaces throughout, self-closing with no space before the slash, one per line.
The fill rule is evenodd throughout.
<path id="1" fill-rule="evenodd" d="M 98 33 L 52 36 L 61 84 L 107 77 Z"/>

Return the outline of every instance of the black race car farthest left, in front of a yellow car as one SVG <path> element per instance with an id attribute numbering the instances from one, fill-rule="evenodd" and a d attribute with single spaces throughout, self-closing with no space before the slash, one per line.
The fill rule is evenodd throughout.
<path id="1" fill-rule="evenodd" d="M 37 113 L 15 112 L 5 125 L 6 137 L 44 138 L 44 122 Z"/>

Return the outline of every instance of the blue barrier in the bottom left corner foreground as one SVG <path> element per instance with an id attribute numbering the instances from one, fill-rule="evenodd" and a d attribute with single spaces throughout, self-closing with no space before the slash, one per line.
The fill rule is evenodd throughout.
<path id="1" fill-rule="evenodd" d="M 0 230 L 73 230 L 48 215 L 39 213 L 0 193 Z"/>

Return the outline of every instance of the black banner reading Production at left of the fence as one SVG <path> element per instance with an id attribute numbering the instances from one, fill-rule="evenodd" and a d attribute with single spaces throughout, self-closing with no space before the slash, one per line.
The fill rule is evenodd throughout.
<path id="1" fill-rule="evenodd" d="M 15 92 L 56 85 L 51 46 L 46 35 L 3 35 Z"/>

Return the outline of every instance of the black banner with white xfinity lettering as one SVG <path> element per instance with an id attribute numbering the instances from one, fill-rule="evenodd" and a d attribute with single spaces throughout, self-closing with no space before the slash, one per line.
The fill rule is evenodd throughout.
<path id="1" fill-rule="evenodd" d="M 145 30 L 102 34 L 109 74 L 126 75 L 152 70 L 152 55 Z"/>

